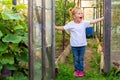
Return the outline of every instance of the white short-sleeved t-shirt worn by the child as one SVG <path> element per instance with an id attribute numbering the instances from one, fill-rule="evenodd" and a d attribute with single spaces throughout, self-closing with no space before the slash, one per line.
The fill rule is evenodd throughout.
<path id="1" fill-rule="evenodd" d="M 79 24 L 74 21 L 64 26 L 65 30 L 70 31 L 70 45 L 72 47 L 80 47 L 87 45 L 86 28 L 89 27 L 90 21 L 81 21 Z"/>

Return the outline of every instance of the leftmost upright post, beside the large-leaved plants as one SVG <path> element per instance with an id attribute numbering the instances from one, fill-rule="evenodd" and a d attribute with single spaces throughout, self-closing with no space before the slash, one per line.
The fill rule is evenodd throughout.
<path id="1" fill-rule="evenodd" d="M 33 80 L 33 0 L 28 1 L 28 26 L 29 80 Z"/>

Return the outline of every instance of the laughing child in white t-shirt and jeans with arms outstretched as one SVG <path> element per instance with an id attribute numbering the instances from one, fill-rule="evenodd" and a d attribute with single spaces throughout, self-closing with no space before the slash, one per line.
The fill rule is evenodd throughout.
<path id="1" fill-rule="evenodd" d="M 69 30 L 70 31 L 70 45 L 74 61 L 74 76 L 83 76 L 84 70 L 84 53 L 87 45 L 86 41 L 86 27 L 104 20 L 104 17 L 92 21 L 83 20 L 83 13 L 81 8 L 75 7 L 70 9 L 70 15 L 73 21 L 70 21 L 65 26 L 56 26 L 56 30 Z"/>

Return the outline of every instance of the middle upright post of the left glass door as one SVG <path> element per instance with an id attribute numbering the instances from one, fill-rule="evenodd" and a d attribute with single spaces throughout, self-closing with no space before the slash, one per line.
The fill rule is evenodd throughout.
<path id="1" fill-rule="evenodd" d="M 46 80 L 46 13 L 45 2 L 42 0 L 42 80 Z"/>

